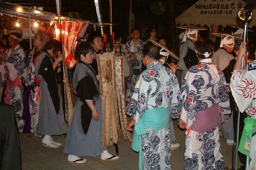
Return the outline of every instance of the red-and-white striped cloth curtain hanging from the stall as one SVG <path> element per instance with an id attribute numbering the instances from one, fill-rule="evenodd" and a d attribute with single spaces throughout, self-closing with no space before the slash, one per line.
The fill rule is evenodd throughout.
<path id="1" fill-rule="evenodd" d="M 76 65 L 75 49 L 77 40 L 84 35 L 88 23 L 80 21 L 61 21 L 62 25 L 62 40 L 65 50 L 66 62 L 69 67 Z M 58 23 L 55 23 L 56 39 L 60 40 Z"/>

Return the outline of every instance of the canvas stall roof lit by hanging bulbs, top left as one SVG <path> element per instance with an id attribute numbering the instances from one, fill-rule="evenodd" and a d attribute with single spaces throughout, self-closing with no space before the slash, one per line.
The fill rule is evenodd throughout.
<path id="1" fill-rule="evenodd" d="M 30 17 L 32 20 L 38 20 L 40 22 L 50 22 L 51 20 L 54 20 L 54 21 L 58 20 L 58 17 L 56 16 L 55 13 L 41 11 L 39 9 L 34 9 L 29 7 L 24 7 L 19 4 L 12 4 L 12 3 L 0 1 L 0 13 L 4 13 L 10 16 L 17 16 L 23 19 L 29 19 L 29 11 L 30 11 Z M 67 16 L 62 16 L 61 20 L 84 21 L 89 24 L 94 24 L 90 21 L 70 18 Z"/>

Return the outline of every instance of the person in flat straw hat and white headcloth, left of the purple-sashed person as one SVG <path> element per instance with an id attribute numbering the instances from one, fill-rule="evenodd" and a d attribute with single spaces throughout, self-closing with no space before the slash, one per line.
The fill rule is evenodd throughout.
<path id="1" fill-rule="evenodd" d="M 188 69 L 198 63 L 194 43 L 200 36 L 199 30 L 206 30 L 206 28 L 195 26 L 182 26 L 178 28 L 186 29 L 186 32 L 181 40 L 183 44 L 180 46 L 180 61 L 178 62 L 178 66 L 183 70 L 181 76 L 183 80 L 188 72 Z"/>

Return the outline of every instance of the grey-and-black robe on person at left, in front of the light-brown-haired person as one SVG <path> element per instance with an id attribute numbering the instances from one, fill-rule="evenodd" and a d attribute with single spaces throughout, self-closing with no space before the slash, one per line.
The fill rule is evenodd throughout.
<path id="1" fill-rule="evenodd" d="M 67 133 L 62 97 L 52 64 L 52 59 L 45 52 L 39 55 L 35 63 L 35 74 L 40 80 L 38 134 L 41 135 L 61 135 Z M 56 113 L 56 105 L 59 108 L 57 109 L 59 110 L 58 114 Z"/>

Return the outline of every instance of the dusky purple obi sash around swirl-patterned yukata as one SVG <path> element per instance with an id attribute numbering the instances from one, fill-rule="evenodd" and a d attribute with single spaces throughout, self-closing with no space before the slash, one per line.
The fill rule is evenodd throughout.
<path id="1" fill-rule="evenodd" d="M 219 124 L 220 116 L 222 118 L 222 123 L 224 120 L 224 115 L 219 109 L 219 105 L 215 104 L 207 109 L 196 112 L 196 120 L 191 125 L 191 130 L 195 132 L 205 132 L 215 128 Z"/>

